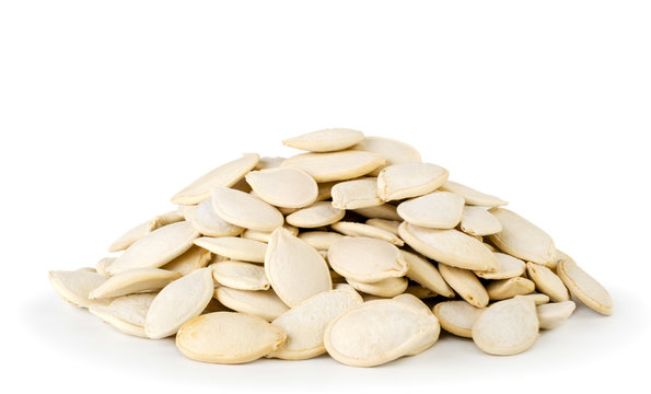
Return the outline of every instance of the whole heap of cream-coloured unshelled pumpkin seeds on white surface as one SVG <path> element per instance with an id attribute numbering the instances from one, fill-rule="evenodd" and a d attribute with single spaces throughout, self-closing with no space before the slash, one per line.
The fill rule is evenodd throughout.
<path id="1" fill-rule="evenodd" d="M 216 363 L 327 352 L 372 367 L 431 348 L 441 328 L 515 355 L 572 314 L 571 296 L 611 314 L 547 233 L 411 146 L 351 129 L 283 143 L 307 152 L 218 166 L 113 242 L 119 255 L 50 271 L 54 288 Z"/>

